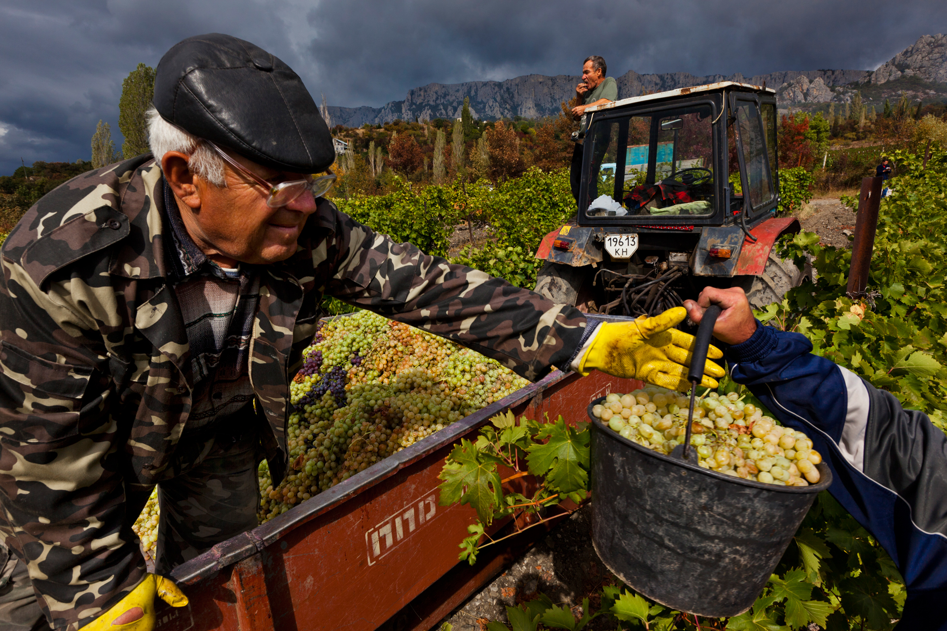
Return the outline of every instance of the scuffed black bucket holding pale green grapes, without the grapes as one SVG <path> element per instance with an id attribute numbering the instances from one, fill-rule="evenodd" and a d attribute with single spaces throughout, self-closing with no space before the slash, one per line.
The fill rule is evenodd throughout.
<path id="1" fill-rule="evenodd" d="M 661 605 L 709 618 L 747 610 L 831 471 L 810 486 L 726 476 L 622 438 L 592 414 L 592 543 L 605 566 Z M 693 453 L 693 451 L 691 451 Z"/>

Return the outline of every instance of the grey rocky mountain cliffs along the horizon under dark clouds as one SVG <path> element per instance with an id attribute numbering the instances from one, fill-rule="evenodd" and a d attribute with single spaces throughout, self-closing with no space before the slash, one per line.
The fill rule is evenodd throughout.
<path id="1" fill-rule="evenodd" d="M 641 75 L 629 70 L 616 81 L 619 98 L 730 80 L 765 84 L 777 90 L 781 104 L 791 104 L 848 101 L 858 84 L 881 84 L 909 77 L 947 83 L 947 36 L 924 35 L 875 71 L 791 70 L 744 78 L 740 73 L 697 77 L 684 72 Z M 580 79 L 571 75 L 526 75 L 505 81 L 429 83 L 408 91 L 404 100 L 391 101 L 380 108 L 330 106 L 329 113 L 333 125 L 347 127 L 396 119 L 451 119 L 460 115 L 464 97 L 470 96 L 471 111 L 476 118 L 495 120 L 516 115 L 539 118 L 559 114 L 560 103 L 575 94 Z M 931 92 L 939 94 L 939 91 Z"/>

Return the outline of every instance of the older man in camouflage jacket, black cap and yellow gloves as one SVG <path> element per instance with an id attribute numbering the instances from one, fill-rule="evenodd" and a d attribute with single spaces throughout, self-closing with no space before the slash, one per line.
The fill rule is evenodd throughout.
<path id="1" fill-rule="evenodd" d="M 162 574 L 257 525 L 263 458 L 275 483 L 286 472 L 289 381 L 324 294 L 528 379 L 687 388 L 683 308 L 597 326 L 340 213 L 334 176 L 311 175 L 335 157 L 325 121 L 254 44 L 172 46 L 149 121 L 153 157 L 63 184 L 0 250 L 4 631 L 149 631 L 155 596 L 187 604 Z M 708 386 L 724 374 L 705 370 Z M 132 525 L 155 487 L 152 574 Z"/>

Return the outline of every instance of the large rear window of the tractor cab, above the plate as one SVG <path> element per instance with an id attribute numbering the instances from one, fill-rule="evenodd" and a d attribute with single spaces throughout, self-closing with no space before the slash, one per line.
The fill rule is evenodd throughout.
<path id="1" fill-rule="evenodd" d="M 699 105 L 596 122 L 586 140 L 592 145 L 586 214 L 712 214 L 710 114 L 709 106 Z"/>

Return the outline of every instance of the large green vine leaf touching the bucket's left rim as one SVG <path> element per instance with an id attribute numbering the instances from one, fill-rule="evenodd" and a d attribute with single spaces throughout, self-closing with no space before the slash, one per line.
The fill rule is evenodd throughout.
<path id="1" fill-rule="evenodd" d="M 529 473 L 545 476 L 546 482 L 562 493 L 585 489 L 588 483 L 589 432 L 582 429 L 576 431 L 568 427 L 562 416 L 555 423 L 544 425 L 537 439 L 548 438 L 548 441 L 527 448 Z"/>

